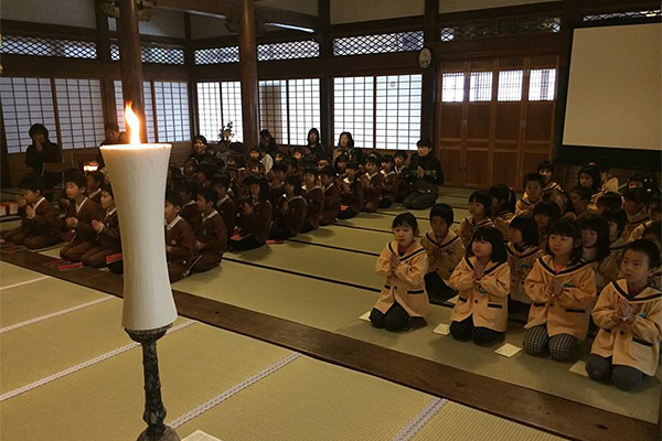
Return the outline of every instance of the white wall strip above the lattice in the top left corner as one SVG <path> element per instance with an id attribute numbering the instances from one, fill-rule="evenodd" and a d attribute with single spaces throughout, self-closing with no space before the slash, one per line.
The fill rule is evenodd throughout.
<path id="1" fill-rule="evenodd" d="M 96 28 L 94 0 L 4 0 L 2 20 Z"/>

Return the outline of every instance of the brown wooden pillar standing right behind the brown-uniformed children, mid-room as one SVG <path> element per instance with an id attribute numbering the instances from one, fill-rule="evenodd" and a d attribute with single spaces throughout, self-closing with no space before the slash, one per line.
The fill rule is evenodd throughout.
<path id="1" fill-rule="evenodd" d="M 259 101 L 257 93 L 257 42 L 254 0 L 243 0 L 239 20 L 239 71 L 242 73 L 242 122 L 244 149 L 258 146 Z"/>

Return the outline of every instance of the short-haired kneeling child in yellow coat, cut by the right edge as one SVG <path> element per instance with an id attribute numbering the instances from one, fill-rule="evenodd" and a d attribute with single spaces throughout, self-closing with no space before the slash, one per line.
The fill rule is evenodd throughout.
<path id="1" fill-rule="evenodd" d="M 650 240 L 636 240 L 623 254 L 623 279 L 609 283 L 592 312 L 600 327 L 586 372 L 595 380 L 611 379 L 633 390 L 644 375 L 654 376 L 662 340 L 662 292 L 649 286 L 660 267 L 660 251 Z"/>

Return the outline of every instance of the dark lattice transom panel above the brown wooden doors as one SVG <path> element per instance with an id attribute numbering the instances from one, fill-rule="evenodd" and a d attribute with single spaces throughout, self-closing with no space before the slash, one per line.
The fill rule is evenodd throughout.
<path id="1" fill-rule="evenodd" d="M 559 32 L 560 19 L 553 18 L 526 18 L 503 19 L 484 23 L 465 24 L 458 26 L 441 28 L 441 41 L 474 40 L 499 35 L 534 34 L 546 32 Z"/>

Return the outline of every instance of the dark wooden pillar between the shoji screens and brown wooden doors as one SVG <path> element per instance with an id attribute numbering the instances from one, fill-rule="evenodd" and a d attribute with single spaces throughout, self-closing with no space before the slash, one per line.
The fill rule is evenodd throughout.
<path id="1" fill-rule="evenodd" d="M 425 0 L 423 39 L 426 47 L 439 41 L 439 0 Z M 420 138 L 427 138 L 435 146 L 435 108 L 437 106 L 437 57 L 433 55 L 430 65 L 423 69 L 423 90 L 420 103 Z M 439 152 L 437 151 L 437 155 Z"/>

